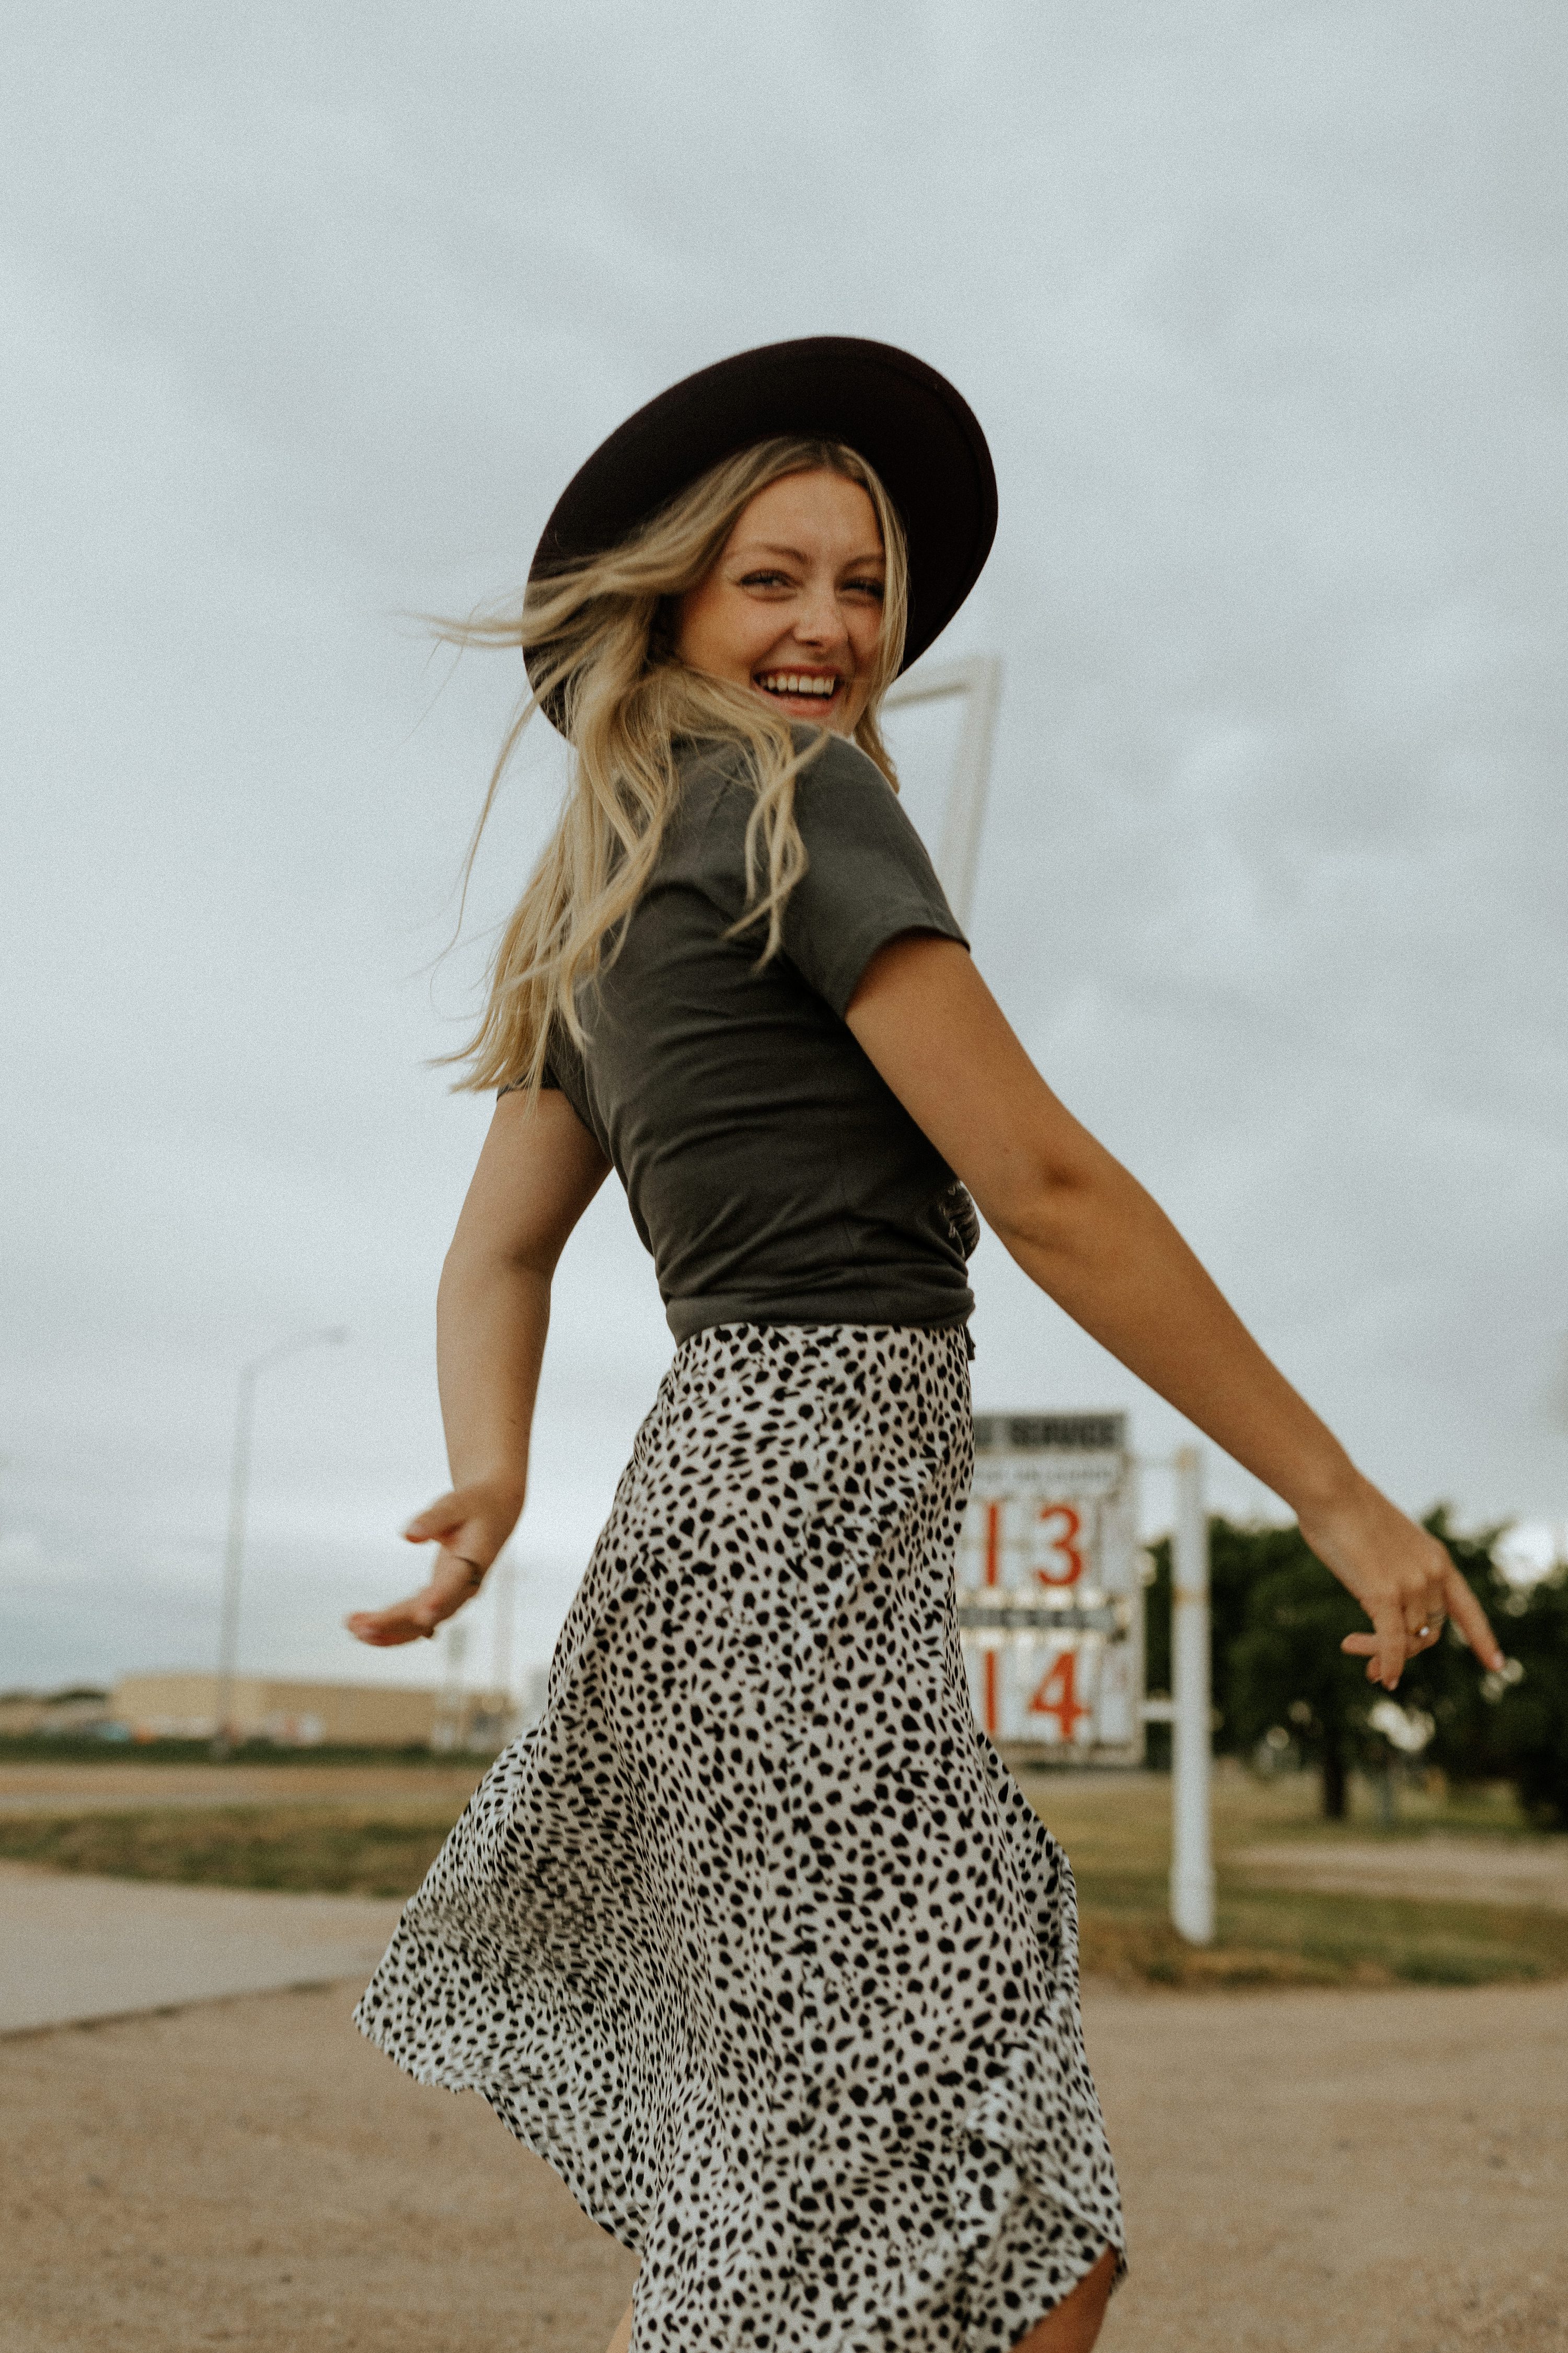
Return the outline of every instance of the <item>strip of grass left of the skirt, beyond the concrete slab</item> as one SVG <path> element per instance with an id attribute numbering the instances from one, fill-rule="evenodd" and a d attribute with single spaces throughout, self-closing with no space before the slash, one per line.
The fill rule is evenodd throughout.
<path id="1" fill-rule="evenodd" d="M 125 1814 L 0 1819 L 0 1857 L 47 1871 L 181 1887 L 287 1887 L 299 1894 L 411 1897 L 451 1812 L 223 1805 Z"/>

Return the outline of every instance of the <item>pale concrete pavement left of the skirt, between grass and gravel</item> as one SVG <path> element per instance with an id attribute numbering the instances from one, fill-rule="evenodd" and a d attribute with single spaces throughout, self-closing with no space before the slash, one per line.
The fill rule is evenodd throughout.
<path id="1" fill-rule="evenodd" d="M 0 1864 L 0 2033 L 369 1977 L 400 1911 Z"/>

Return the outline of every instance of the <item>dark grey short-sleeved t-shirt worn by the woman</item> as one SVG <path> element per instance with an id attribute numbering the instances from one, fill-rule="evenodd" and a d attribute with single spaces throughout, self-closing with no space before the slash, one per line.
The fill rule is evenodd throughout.
<path id="1" fill-rule="evenodd" d="M 578 995 L 588 1052 L 557 1028 L 545 1085 L 614 1162 L 677 1339 L 964 1322 L 973 1205 L 844 1026 L 889 939 L 964 934 L 886 779 L 830 736 L 795 786 L 811 864 L 759 969 L 764 925 L 724 936 L 745 911 L 741 760 L 689 758 L 621 953 Z"/>

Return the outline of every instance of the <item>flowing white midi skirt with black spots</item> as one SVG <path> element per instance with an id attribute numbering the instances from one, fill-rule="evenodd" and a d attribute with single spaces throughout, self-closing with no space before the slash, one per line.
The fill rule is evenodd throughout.
<path id="1" fill-rule="evenodd" d="M 635 2353 L 1001 2353 L 1121 2247 L 1072 1873 L 973 1722 L 961 1332 L 675 1355 L 357 2009 L 639 2249 Z"/>

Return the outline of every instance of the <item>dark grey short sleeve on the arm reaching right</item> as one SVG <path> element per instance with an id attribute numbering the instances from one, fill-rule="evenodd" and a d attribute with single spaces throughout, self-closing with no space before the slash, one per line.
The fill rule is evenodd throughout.
<path id="1" fill-rule="evenodd" d="M 877 948 L 900 932 L 969 946 L 926 845 L 856 744 L 830 736 L 797 779 L 795 821 L 811 864 L 785 901 L 783 944 L 839 1019 Z"/>

